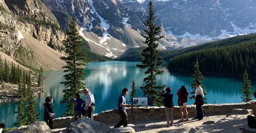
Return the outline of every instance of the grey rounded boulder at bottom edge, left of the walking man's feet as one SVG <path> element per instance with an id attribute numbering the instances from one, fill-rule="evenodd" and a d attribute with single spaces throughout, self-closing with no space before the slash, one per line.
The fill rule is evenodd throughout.
<path id="1" fill-rule="evenodd" d="M 68 132 L 117 132 L 116 130 L 110 129 L 104 123 L 91 120 L 89 118 L 81 118 L 71 123 L 64 131 Z"/>

